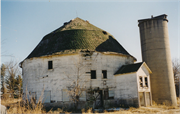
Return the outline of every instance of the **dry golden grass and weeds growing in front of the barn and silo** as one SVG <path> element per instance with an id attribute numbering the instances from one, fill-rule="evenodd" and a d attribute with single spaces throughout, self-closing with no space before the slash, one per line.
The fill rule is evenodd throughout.
<path id="1" fill-rule="evenodd" d="M 144 114 L 152 114 L 152 113 L 160 113 L 160 114 L 168 114 L 168 113 L 174 113 L 174 110 L 180 109 L 180 99 L 178 98 L 177 100 L 178 106 L 170 106 L 169 102 L 164 102 L 162 105 L 156 104 L 153 102 L 153 106 L 151 107 L 141 107 L 141 108 L 133 108 L 130 107 L 128 110 L 119 110 L 119 111 L 114 111 L 114 112 L 107 112 L 105 111 L 104 113 L 107 114 L 138 114 L 138 113 L 144 113 Z M 43 108 L 43 105 L 41 102 L 34 103 L 32 100 L 31 102 L 24 102 L 22 99 L 2 99 L 1 104 L 5 105 L 8 108 L 7 112 L 8 113 L 53 113 L 53 114 L 59 114 L 59 113 L 66 113 L 69 114 L 71 112 L 66 112 L 63 111 L 62 109 L 58 108 L 55 111 L 48 111 L 46 112 L 45 109 Z M 81 110 L 82 114 L 92 114 L 93 111 L 92 109 L 89 109 L 85 112 L 84 109 Z M 180 110 L 179 110 L 180 111 Z M 98 112 L 94 112 L 95 114 L 98 114 Z"/>

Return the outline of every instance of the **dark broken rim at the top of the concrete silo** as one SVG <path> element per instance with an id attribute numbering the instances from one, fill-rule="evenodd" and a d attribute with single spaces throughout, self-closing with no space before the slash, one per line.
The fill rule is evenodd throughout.
<path id="1" fill-rule="evenodd" d="M 150 21 L 150 20 L 165 20 L 165 21 L 168 22 L 166 14 L 159 15 L 159 16 L 156 16 L 156 17 L 151 16 L 151 18 L 147 18 L 147 19 L 140 19 L 140 20 L 138 20 L 138 22 L 139 22 L 139 24 L 141 24 L 143 22 Z"/>

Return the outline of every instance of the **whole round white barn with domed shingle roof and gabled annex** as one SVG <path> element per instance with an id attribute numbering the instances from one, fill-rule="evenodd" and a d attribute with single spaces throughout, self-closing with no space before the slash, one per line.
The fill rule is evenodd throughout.
<path id="1" fill-rule="evenodd" d="M 134 62 L 111 34 L 75 18 L 44 36 L 20 63 L 23 93 L 36 102 L 42 98 L 45 104 L 64 106 L 72 103 L 69 87 L 78 84 L 79 107 L 151 105 L 151 70 Z M 97 96 L 91 104 L 90 89 Z"/>

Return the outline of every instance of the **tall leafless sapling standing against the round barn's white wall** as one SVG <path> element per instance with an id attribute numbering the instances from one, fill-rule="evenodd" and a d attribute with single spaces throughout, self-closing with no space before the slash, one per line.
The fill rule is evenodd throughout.
<path id="1" fill-rule="evenodd" d="M 89 68 L 94 60 L 92 60 L 91 55 L 93 52 L 90 51 L 81 51 L 81 56 L 79 57 L 79 61 L 74 60 L 75 65 L 75 76 L 72 74 L 68 75 L 64 72 L 66 76 L 66 80 L 70 81 L 70 84 L 67 85 L 67 93 L 70 97 L 70 100 L 73 101 L 75 110 L 77 110 L 80 97 L 82 96 L 83 91 L 86 91 L 86 83 L 90 81 L 90 78 L 84 77 L 85 71 Z M 87 63 L 87 60 L 90 60 L 91 64 Z M 96 59 L 96 57 L 94 58 Z"/>

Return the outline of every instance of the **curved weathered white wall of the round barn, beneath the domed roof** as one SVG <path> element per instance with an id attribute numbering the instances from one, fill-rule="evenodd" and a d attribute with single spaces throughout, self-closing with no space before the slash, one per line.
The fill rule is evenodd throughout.
<path id="1" fill-rule="evenodd" d="M 48 70 L 48 61 L 53 61 L 53 69 Z M 66 89 L 79 76 L 82 88 L 114 88 L 114 73 L 124 64 L 132 64 L 132 57 L 94 52 L 84 57 L 82 54 L 51 56 L 26 59 L 23 64 L 23 93 L 36 94 L 36 98 L 50 97 L 51 102 L 69 101 Z M 90 71 L 96 70 L 96 79 L 91 79 Z M 107 70 L 107 79 L 102 79 L 102 70 Z M 106 80 L 106 84 L 103 82 Z M 50 92 L 50 96 L 43 95 Z M 27 93 L 27 94 L 28 94 Z M 66 95 L 66 96 L 65 96 Z M 82 96 L 84 97 L 84 96 Z"/>

